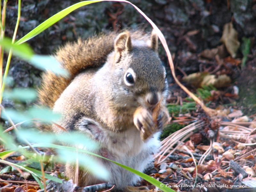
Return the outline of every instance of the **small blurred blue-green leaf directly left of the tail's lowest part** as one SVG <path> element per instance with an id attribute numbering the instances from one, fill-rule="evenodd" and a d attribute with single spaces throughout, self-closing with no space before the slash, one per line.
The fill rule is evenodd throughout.
<path id="1" fill-rule="evenodd" d="M 36 90 L 32 88 L 14 88 L 4 91 L 3 97 L 11 100 L 33 101 L 36 99 L 36 94 Z"/>

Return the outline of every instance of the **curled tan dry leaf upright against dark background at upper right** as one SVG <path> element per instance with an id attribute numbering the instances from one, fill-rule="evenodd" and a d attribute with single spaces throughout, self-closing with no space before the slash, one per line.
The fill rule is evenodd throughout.
<path id="1" fill-rule="evenodd" d="M 231 22 L 224 25 L 223 34 L 220 41 L 225 44 L 231 57 L 235 58 L 236 52 L 240 46 L 240 42 L 238 41 L 237 32 L 233 28 L 233 24 Z"/>

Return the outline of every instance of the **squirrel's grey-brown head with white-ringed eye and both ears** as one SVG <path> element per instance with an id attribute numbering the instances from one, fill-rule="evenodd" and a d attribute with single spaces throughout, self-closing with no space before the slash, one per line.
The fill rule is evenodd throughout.
<path id="1" fill-rule="evenodd" d="M 123 32 L 115 39 L 108 59 L 115 105 L 152 108 L 165 96 L 166 72 L 157 53 L 158 37 L 154 31 L 146 37 Z"/>

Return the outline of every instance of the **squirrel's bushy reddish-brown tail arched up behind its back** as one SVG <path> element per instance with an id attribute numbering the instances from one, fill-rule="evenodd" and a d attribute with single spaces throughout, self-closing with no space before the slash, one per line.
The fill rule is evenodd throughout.
<path id="1" fill-rule="evenodd" d="M 148 40 L 149 34 L 142 30 L 130 32 L 132 39 Z M 76 75 L 87 68 L 100 67 L 106 62 L 108 54 L 114 49 L 114 40 L 118 33 L 101 33 L 86 40 L 67 43 L 55 54 L 62 67 L 69 72 L 68 77 L 56 76 L 52 72 L 42 75 L 41 87 L 38 90 L 41 105 L 53 108 L 55 101 Z"/>

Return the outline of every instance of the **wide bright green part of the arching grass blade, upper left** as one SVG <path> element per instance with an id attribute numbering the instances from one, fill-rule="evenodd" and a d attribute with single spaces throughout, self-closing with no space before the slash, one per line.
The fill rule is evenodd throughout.
<path id="1" fill-rule="evenodd" d="M 45 20 L 43 23 L 38 25 L 36 28 L 34 28 L 32 31 L 30 31 L 27 35 L 23 36 L 19 41 L 16 42 L 16 44 L 22 44 L 22 43 L 28 41 L 29 39 L 38 35 L 42 31 L 44 31 L 45 29 L 51 27 L 54 23 L 58 22 L 63 17 L 68 15 L 70 12 L 76 10 L 77 8 L 82 7 L 84 5 L 97 3 L 97 2 L 100 2 L 100 1 L 102 1 L 102 0 L 82 1 L 82 2 L 76 3 L 74 5 L 71 5 L 66 9 L 63 9 L 62 11 L 56 13 L 55 15 L 53 15 L 52 17 L 50 17 L 49 19 Z"/>

